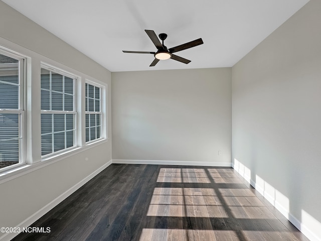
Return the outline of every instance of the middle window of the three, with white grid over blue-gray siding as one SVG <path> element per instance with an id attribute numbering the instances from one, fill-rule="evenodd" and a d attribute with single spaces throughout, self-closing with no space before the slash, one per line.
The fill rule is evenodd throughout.
<path id="1" fill-rule="evenodd" d="M 75 85 L 76 77 L 41 68 L 42 156 L 75 146 Z"/>

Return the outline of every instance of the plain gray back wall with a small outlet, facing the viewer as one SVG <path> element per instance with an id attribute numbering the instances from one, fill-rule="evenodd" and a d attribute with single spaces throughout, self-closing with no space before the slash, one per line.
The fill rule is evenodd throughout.
<path id="1" fill-rule="evenodd" d="M 113 72 L 112 133 L 113 160 L 231 165 L 231 68 Z"/>

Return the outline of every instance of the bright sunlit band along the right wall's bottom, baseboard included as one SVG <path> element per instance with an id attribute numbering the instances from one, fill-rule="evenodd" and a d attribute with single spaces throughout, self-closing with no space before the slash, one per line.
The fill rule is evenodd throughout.
<path id="1" fill-rule="evenodd" d="M 233 168 L 310 240 L 321 240 L 321 223 L 318 220 L 303 209 L 301 209 L 300 218 L 294 217 L 290 213 L 288 197 L 255 173 L 251 173 L 251 170 L 237 159 L 234 159 Z M 251 175 L 255 178 L 254 180 L 251 179 Z"/>

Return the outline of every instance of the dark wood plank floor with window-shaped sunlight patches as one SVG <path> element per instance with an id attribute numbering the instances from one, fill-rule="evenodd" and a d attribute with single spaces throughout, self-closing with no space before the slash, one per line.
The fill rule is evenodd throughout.
<path id="1" fill-rule="evenodd" d="M 308 240 L 232 168 L 112 164 L 13 240 Z"/>

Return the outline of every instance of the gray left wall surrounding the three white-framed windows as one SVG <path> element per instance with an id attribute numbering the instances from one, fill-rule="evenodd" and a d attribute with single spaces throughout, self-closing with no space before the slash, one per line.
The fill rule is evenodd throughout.
<path id="1" fill-rule="evenodd" d="M 45 59 L 46 62 L 57 61 L 64 64 L 68 71 L 80 71 L 84 76 L 103 81 L 110 87 L 111 74 L 108 70 L 1 1 L 0 23 L 0 45 L 31 57 L 28 61 L 32 62 L 33 67 L 27 69 L 28 76 L 32 78 L 32 83 L 29 84 L 40 87 L 40 61 Z M 27 142 L 35 144 L 28 158 L 35 162 L 40 161 L 40 91 L 38 92 L 27 93 L 27 105 L 33 107 L 32 113 L 27 113 L 27 118 L 34 118 L 33 126 L 27 127 L 27 132 L 34 135 L 33 138 L 29 136 Z M 110 92 L 108 96 L 111 96 Z M 110 102 L 110 99 L 106 102 L 109 116 Z M 111 133 L 110 121 L 108 131 Z M 18 226 L 110 160 L 111 140 L 26 175 L 0 182 L 0 226 Z"/>

